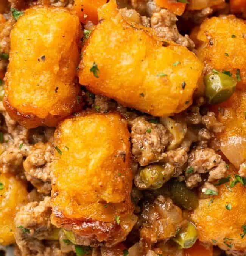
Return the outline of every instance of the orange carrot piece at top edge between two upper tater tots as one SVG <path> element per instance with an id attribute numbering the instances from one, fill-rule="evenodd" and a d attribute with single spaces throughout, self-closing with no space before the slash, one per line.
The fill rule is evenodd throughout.
<path id="1" fill-rule="evenodd" d="M 98 23 L 97 9 L 106 2 L 107 0 L 75 0 L 73 8 L 82 23 L 91 21 L 96 25 Z"/>

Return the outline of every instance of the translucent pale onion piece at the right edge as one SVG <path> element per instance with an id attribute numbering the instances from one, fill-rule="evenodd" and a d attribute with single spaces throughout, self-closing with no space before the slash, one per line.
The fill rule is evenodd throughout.
<path id="1" fill-rule="evenodd" d="M 246 138 L 244 137 L 230 136 L 225 138 L 220 149 L 237 169 L 246 160 Z"/>

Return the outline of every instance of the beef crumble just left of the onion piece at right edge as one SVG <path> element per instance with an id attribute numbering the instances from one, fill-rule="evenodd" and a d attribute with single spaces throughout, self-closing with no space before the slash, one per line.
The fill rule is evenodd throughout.
<path id="1" fill-rule="evenodd" d="M 194 172 L 206 173 L 212 168 L 218 166 L 221 162 L 221 156 L 216 154 L 213 149 L 195 149 L 188 157 L 188 165 L 193 167 Z"/>

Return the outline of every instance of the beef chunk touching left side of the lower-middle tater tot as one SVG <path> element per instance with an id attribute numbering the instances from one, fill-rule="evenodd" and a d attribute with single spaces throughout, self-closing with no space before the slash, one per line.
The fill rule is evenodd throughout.
<path id="1" fill-rule="evenodd" d="M 51 162 L 54 147 L 51 143 L 39 142 L 33 146 L 23 163 L 26 179 L 37 188 L 38 192 L 48 194 L 51 191 Z"/>

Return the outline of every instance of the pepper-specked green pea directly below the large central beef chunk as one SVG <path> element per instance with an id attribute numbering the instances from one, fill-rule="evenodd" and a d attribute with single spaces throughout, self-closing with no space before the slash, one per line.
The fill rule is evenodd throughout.
<path id="1" fill-rule="evenodd" d="M 173 166 L 152 164 L 140 171 L 140 177 L 148 188 L 158 189 L 171 178 L 173 173 Z"/>

